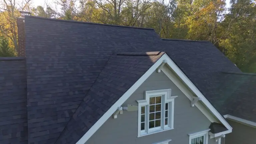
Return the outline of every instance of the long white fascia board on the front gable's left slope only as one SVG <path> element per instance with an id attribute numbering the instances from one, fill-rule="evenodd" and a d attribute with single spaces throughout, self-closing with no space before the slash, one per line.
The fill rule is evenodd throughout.
<path id="1" fill-rule="evenodd" d="M 84 144 L 107 119 L 122 105 L 137 88 L 166 60 L 168 56 L 162 55 L 149 69 L 143 74 L 137 82 L 135 82 L 110 108 L 103 116 L 76 142 L 76 144 Z"/>

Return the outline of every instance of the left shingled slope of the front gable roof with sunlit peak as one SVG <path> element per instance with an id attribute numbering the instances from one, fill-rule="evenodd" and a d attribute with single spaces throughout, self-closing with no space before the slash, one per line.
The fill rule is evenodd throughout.
<path id="1" fill-rule="evenodd" d="M 129 55 L 127 55 L 129 54 Z M 156 55 L 157 54 L 157 55 Z M 164 54 L 113 55 L 85 96 L 56 143 L 76 143 L 127 90 Z M 119 105 L 120 106 L 120 105 Z M 109 116 L 107 117 L 109 118 Z M 93 128 L 92 128 L 93 129 Z"/>

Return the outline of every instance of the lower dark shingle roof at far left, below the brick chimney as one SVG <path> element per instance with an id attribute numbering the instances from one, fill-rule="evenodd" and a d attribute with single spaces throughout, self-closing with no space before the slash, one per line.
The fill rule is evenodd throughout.
<path id="1" fill-rule="evenodd" d="M 27 144 L 27 133 L 25 59 L 0 57 L 0 144 Z"/>

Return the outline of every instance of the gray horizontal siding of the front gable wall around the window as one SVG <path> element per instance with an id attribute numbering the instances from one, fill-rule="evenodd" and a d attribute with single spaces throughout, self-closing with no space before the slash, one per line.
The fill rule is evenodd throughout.
<path id="1" fill-rule="evenodd" d="M 172 89 L 174 103 L 174 129 L 148 136 L 137 137 L 138 111 L 124 111 L 117 119 L 110 117 L 86 144 L 151 144 L 172 139 L 170 144 L 188 144 L 188 133 L 205 130 L 210 121 L 196 107 L 190 106 L 190 100 L 163 73 L 154 72 L 122 106 L 138 105 L 136 100 L 144 99 L 144 92 L 148 90 Z M 209 140 L 210 141 L 210 140 Z M 212 139 L 211 139 L 212 141 Z M 209 144 L 216 144 L 214 141 Z"/>

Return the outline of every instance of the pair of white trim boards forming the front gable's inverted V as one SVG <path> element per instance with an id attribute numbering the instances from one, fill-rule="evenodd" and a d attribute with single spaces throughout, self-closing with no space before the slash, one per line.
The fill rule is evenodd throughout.
<path id="1" fill-rule="evenodd" d="M 165 60 L 165 61 L 164 61 Z M 148 71 L 139 78 L 121 97 L 118 99 L 109 110 L 76 142 L 76 144 L 84 144 L 106 121 L 111 115 L 122 105 L 132 93 L 163 63 L 166 62 L 169 67 L 177 74 L 177 76 L 195 93 L 198 97 L 202 98 L 202 102 L 209 108 L 218 120 L 230 131 L 232 127 L 226 120 L 217 112 L 217 110 L 210 104 L 210 102 L 203 96 L 203 94 L 196 88 L 196 86 L 187 78 L 187 76 L 179 69 L 179 67 L 171 60 L 171 58 L 164 54 L 159 58 Z"/>

